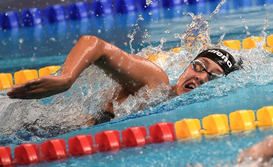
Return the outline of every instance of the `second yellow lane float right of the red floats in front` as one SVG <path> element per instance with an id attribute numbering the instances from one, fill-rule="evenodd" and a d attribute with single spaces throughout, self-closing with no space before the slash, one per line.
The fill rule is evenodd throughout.
<path id="1" fill-rule="evenodd" d="M 212 114 L 202 119 L 204 134 L 221 134 L 229 131 L 226 114 Z"/>

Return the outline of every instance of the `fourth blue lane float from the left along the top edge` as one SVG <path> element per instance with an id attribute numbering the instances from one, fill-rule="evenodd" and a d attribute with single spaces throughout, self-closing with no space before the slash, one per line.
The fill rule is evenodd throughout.
<path id="1" fill-rule="evenodd" d="M 89 16 L 89 5 L 87 2 L 75 2 L 68 5 L 68 11 L 72 20 L 87 18 Z"/>

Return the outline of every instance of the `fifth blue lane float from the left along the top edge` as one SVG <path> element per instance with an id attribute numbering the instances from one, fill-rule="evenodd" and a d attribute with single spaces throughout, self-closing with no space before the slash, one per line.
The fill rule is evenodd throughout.
<path id="1" fill-rule="evenodd" d="M 94 0 L 91 3 L 91 10 L 95 16 L 109 15 L 113 13 L 111 0 Z"/>

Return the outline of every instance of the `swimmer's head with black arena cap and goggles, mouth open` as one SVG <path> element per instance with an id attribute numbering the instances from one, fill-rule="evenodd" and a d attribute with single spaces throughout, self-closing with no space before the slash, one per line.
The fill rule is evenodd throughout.
<path id="1" fill-rule="evenodd" d="M 241 65 L 241 62 L 240 62 Z M 233 56 L 221 49 L 208 49 L 198 54 L 180 75 L 174 86 L 178 95 L 187 93 L 218 76 L 241 69 Z"/>

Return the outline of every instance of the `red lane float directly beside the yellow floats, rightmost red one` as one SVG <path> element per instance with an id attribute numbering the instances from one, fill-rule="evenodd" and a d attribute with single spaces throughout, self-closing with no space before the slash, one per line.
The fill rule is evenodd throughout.
<path id="1" fill-rule="evenodd" d="M 166 142 L 175 140 L 174 125 L 172 122 L 155 123 L 149 127 L 152 142 Z"/>

